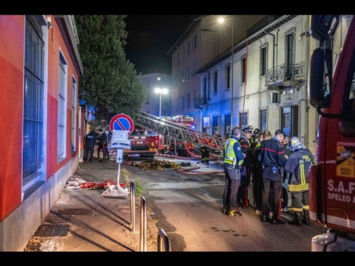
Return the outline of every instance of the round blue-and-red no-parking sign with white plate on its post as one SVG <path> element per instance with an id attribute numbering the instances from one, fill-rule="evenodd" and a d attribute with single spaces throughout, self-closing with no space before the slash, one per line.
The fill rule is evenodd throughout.
<path id="1" fill-rule="evenodd" d="M 133 131 L 133 120 L 124 113 L 114 116 L 109 122 L 109 130 L 112 132 L 111 147 L 116 148 L 116 162 L 119 164 L 117 174 L 117 189 L 119 189 L 119 174 L 123 163 L 123 149 L 130 148 L 128 135 Z"/>

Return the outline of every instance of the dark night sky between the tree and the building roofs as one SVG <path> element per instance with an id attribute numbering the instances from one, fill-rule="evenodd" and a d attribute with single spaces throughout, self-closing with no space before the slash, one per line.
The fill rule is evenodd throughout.
<path id="1" fill-rule="evenodd" d="M 166 53 L 201 15 L 127 15 L 126 58 L 137 73 L 171 75 L 171 56 Z"/>

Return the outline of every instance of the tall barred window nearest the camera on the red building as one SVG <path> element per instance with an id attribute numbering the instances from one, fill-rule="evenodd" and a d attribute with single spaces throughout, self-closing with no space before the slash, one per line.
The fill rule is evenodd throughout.
<path id="1" fill-rule="evenodd" d="M 25 66 L 23 88 L 23 184 L 36 178 L 43 162 L 44 42 L 36 15 L 25 17 Z"/>

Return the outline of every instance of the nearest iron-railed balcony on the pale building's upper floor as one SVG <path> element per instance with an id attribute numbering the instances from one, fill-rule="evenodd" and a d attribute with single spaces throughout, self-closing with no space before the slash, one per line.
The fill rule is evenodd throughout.
<path id="1" fill-rule="evenodd" d="M 302 64 L 281 64 L 267 69 L 265 74 L 265 86 L 269 90 L 299 90 L 301 81 Z"/>

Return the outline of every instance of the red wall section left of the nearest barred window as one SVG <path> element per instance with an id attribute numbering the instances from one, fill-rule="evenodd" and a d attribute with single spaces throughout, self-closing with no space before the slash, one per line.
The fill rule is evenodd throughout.
<path id="1" fill-rule="evenodd" d="M 21 204 L 23 15 L 0 15 L 0 221 Z"/>

